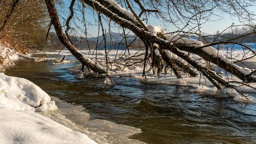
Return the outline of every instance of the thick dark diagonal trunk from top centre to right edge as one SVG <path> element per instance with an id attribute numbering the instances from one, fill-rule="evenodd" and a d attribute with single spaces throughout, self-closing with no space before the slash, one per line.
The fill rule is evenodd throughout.
<path id="1" fill-rule="evenodd" d="M 156 34 L 152 34 L 150 32 L 145 31 L 144 29 L 141 28 L 142 26 L 138 26 L 139 24 L 137 22 L 135 22 L 136 24 L 134 24 L 130 20 L 127 20 L 126 19 L 127 17 L 124 16 L 124 13 L 119 11 L 118 9 L 115 9 L 115 11 L 112 11 L 111 9 L 108 9 L 108 7 L 104 5 L 104 3 L 100 3 L 96 0 L 83 0 L 83 2 L 86 3 L 87 5 L 91 6 L 95 10 L 101 12 L 102 14 L 108 16 L 109 18 L 111 18 L 111 20 L 113 20 L 120 26 L 122 26 L 124 28 L 128 28 L 129 30 L 134 32 L 134 34 L 136 34 L 144 42 L 156 43 L 159 45 L 160 49 L 170 50 L 171 52 L 180 56 L 181 58 L 186 57 L 187 59 L 191 59 L 187 55 L 180 55 L 180 52 L 178 52 L 178 50 L 183 50 L 183 51 L 197 54 L 198 56 L 204 58 L 205 60 L 208 60 L 209 62 L 217 64 L 220 68 L 223 68 L 227 72 L 230 72 L 231 74 L 238 77 L 239 79 L 241 79 L 244 82 L 255 81 L 255 79 L 250 74 L 245 73 L 244 70 L 240 66 L 237 66 L 230 62 L 225 62 L 223 60 L 223 58 L 220 58 L 219 56 L 207 53 L 206 51 L 204 51 L 204 48 L 200 48 L 200 47 L 194 46 L 194 45 L 187 45 L 187 44 L 173 45 L 172 42 L 169 42 L 168 40 L 159 38 L 158 36 L 156 36 Z M 180 39 L 182 41 L 182 38 L 180 38 Z M 176 50 L 176 48 L 177 48 L 177 50 Z M 184 59 L 184 60 L 186 60 L 186 59 Z M 188 63 L 190 63 L 190 62 L 188 62 Z M 193 65 L 193 66 L 195 66 L 195 65 Z"/>

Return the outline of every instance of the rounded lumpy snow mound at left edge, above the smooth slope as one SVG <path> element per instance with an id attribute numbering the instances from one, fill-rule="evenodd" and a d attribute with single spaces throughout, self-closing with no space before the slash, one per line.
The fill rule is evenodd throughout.
<path id="1" fill-rule="evenodd" d="M 0 73 L 0 106 L 14 110 L 44 111 L 56 108 L 41 88 L 24 78 Z"/>

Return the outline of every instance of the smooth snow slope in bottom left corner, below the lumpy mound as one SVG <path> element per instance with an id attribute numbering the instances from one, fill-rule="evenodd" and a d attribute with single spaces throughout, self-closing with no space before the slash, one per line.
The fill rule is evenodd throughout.
<path id="1" fill-rule="evenodd" d="M 1 144 L 96 144 L 40 114 L 0 107 Z"/>

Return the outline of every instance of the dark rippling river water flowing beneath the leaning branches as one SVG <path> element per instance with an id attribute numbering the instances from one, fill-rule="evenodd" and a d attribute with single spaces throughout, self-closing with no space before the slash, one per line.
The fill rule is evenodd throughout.
<path id="1" fill-rule="evenodd" d="M 66 115 L 71 122 L 83 125 L 83 120 L 87 121 L 82 127 L 86 129 L 84 133 L 99 143 L 256 143 L 254 103 L 202 96 L 190 91 L 195 88 L 189 86 L 145 84 L 134 77 L 113 77 L 114 84 L 105 86 L 104 77 L 76 78 L 77 72 L 67 69 L 79 64 L 75 61 L 53 65 L 23 59 L 15 64 L 4 73 L 26 78 L 50 96 L 68 102 L 69 105 L 53 97 L 60 110 L 74 113 Z M 255 94 L 252 97 L 256 98 Z M 71 105 L 80 110 L 70 109 Z M 57 120 L 54 114 L 49 117 L 67 123 Z M 105 136 L 99 140 L 97 131 L 103 129 Z M 118 139 L 114 131 L 134 135 Z"/>

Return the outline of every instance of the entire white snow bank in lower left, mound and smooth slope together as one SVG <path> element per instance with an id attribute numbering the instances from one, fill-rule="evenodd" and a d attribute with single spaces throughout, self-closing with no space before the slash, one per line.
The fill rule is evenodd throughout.
<path id="1" fill-rule="evenodd" d="M 41 88 L 24 78 L 0 73 L 0 144 L 96 144 L 35 111 L 57 109 Z"/>

